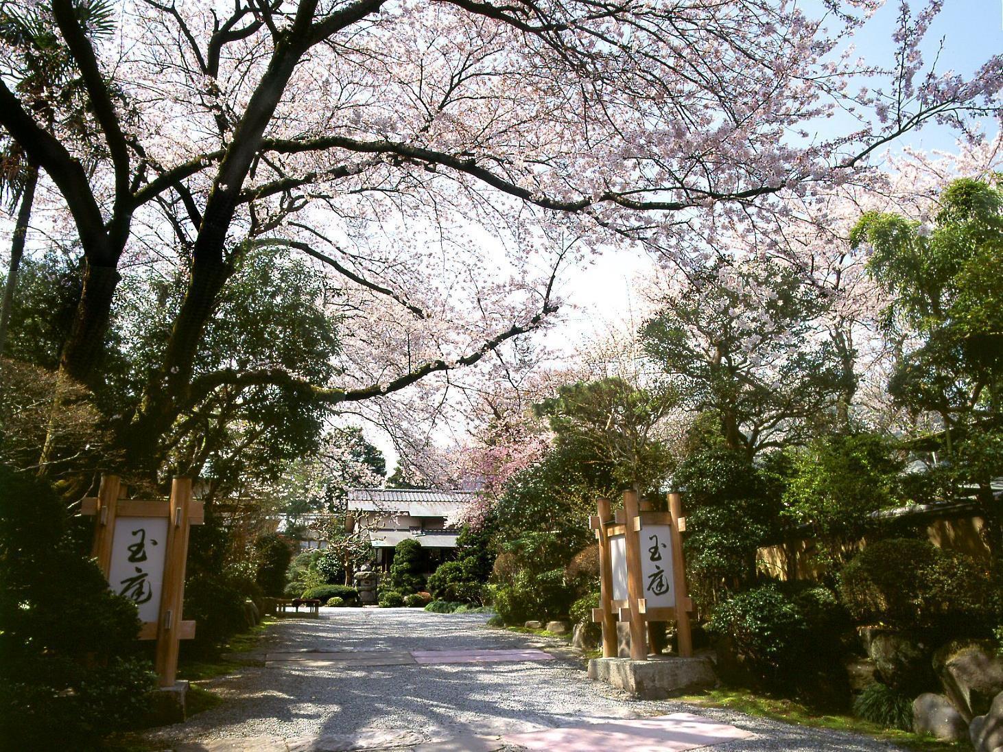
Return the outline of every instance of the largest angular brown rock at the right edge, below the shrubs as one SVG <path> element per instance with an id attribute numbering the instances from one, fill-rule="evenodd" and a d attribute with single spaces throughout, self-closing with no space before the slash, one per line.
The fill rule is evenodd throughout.
<path id="1" fill-rule="evenodd" d="M 993 645 L 978 640 L 955 640 L 934 653 L 934 671 L 944 694 L 965 717 L 985 715 L 1003 692 L 1003 658 Z"/>

